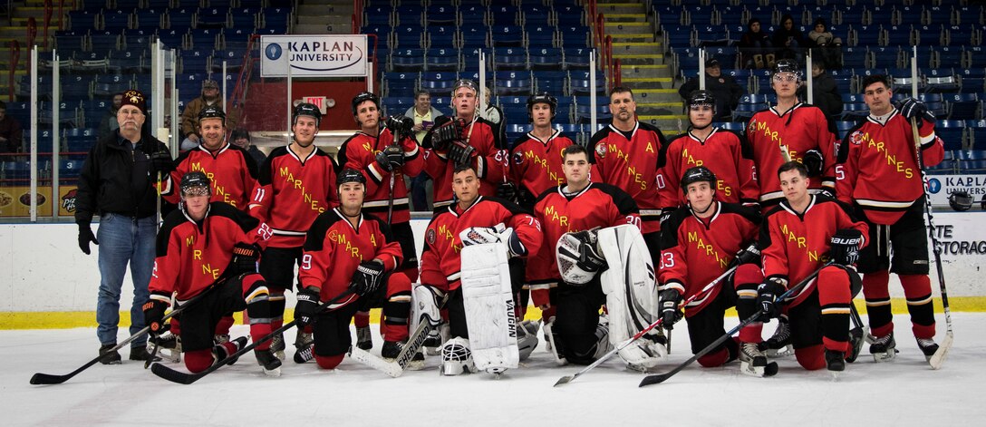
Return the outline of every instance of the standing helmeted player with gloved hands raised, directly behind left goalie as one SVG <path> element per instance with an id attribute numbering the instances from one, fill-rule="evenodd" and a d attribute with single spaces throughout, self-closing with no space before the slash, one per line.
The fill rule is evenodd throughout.
<path id="1" fill-rule="evenodd" d="M 476 113 L 479 86 L 471 80 L 458 80 L 452 91 L 452 103 L 456 107 L 454 117 L 441 116 L 425 136 L 424 171 L 434 180 L 435 210 L 452 204 L 453 171 L 458 165 L 466 165 L 476 172 L 486 185 L 480 194 L 492 196 L 497 187 L 506 181 L 508 155 L 497 131 L 490 122 Z"/>

